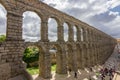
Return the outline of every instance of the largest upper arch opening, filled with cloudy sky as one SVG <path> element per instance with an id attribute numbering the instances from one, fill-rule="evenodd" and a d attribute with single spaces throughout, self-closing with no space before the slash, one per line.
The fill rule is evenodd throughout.
<path id="1" fill-rule="evenodd" d="M 39 41 L 41 39 L 41 17 L 33 11 L 25 11 L 23 17 L 22 38 L 26 41 L 34 38 L 31 42 Z"/>

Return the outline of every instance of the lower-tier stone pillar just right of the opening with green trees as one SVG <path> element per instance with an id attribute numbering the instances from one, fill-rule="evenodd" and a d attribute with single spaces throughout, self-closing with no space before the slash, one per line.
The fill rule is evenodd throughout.
<path id="1" fill-rule="evenodd" d="M 49 53 L 49 48 L 44 44 L 44 50 L 41 50 L 39 57 L 39 76 L 45 79 L 51 78 L 51 57 Z"/>

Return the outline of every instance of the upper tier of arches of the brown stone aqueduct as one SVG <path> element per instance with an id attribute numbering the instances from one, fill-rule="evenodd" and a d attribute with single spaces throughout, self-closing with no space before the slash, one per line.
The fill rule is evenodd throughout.
<path id="1" fill-rule="evenodd" d="M 46 4 L 36 0 L 26 0 L 26 1 L 6 1 L 1 0 L 0 3 L 5 7 L 7 11 L 7 28 L 6 35 L 7 39 L 23 40 L 23 14 L 26 11 L 31 11 L 37 14 L 40 18 L 39 35 L 38 41 L 51 41 L 50 39 L 55 39 L 53 41 L 98 41 L 106 38 L 106 40 L 115 40 L 111 36 L 105 34 L 104 32 L 91 27 L 90 25 L 75 19 L 63 12 L 60 12 Z M 14 4 L 14 5 L 11 5 Z M 26 7 L 27 6 L 27 7 Z M 54 34 L 50 36 L 49 31 L 49 19 L 52 18 L 56 22 L 56 26 L 52 26 Z M 67 29 L 64 26 L 67 23 Z M 34 24 L 34 23 L 33 23 Z M 67 30 L 67 33 L 65 32 Z M 65 34 L 66 33 L 66 34 Z"/>

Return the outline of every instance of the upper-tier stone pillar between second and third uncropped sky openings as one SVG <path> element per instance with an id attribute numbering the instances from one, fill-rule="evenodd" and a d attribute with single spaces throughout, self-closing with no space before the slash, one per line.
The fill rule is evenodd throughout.
<path id="1" fill-rule="evenodd" d="M 63 29 L 63 23 L 58 24 L 58 41 L 64 41 L 64 29 Z"/>

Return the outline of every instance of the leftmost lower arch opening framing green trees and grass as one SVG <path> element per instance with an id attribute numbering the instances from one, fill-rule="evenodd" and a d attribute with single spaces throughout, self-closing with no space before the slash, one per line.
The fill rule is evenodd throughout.
<path id="1" fill-rule="evenodd" d="M 29 75 L 38 75 L 40 73 L 39 70 L 39 59 L 41 49 L 37 46 L 28 46 L 23 53 L 23 61 L 26 65 L 26 71 Z"/>

